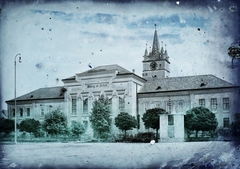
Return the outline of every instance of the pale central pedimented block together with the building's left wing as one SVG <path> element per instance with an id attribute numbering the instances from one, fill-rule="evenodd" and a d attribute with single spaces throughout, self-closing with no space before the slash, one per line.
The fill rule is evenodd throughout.
<path id="1" fill-rule="evenodd" d="M 112 119 L 120 112 L 137 117 L 137 92 L 146 82 L 119 65 L 99 66 L 62 81 L 64 86 L 41 88 L 16 98 L 18 123 L 25 118 L 41 122 L 46 113 L 60 109 L 67 116 L 69 125 L 72 121 L 80 121 L 86 133 L 92 136 L 89 116 L 93 102 L 104 95 L 109 99 Z M 14 99 L 6 103 L 9 118 L 14 118 Z M 119 132 L 115 125 L 112 132 Z"/>

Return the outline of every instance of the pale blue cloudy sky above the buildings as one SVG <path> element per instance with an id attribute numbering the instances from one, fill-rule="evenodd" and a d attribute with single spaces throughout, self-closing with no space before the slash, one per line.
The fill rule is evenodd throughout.
<path id="1" fill-rule="evenodd" d="M 237 1 L 0 0 L 0 5 L 1 110 L 14 98 L 18 53 L 17 96 L 63 86 L 61 79 L 89 70 L 89 64 L 118 64 L 141 76 L 155 24 L 171 77 L 213 74 L 240 84 L 240 62 L 235 59 L 236 67 L 229 68 L 228 55 L 240 42 Z"/>

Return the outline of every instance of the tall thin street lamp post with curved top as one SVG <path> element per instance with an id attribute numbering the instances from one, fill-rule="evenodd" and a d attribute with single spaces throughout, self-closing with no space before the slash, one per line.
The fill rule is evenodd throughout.
<path id="1" fill-rule="evenodd" d="M 16 100 L 16 58 L 17 56 L 19 56 L 19 63 L 21 63 L 21 53 L 18 53 L 16 56 L 15 56 L 15 59 L 14 59 L 14 96 L 15 96 L 15 99 L 14 99 L 14 102 L 15 102 L 15 121 L 14 121 L 14 132 L 15 132 L 15 135 L 14 135 L 14 138 L 15 138 L 15 144 L 17 144 L 17 100 Z"/>

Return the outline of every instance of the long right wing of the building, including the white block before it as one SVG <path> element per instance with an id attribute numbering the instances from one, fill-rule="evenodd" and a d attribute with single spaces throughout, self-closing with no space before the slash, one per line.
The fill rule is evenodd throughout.
<path id="1" fill-rule="evenodd" d="M 204 106 L 216 115 L 218 127 L 228 127 L 239 113 L 239 92 L 239 86 L 214 75 L 149 79 L 138 93 L 140 119 L 147 109 L 162 108 L 168 114 L 160 115 L 160 141 L 184 141 L 187 110 Z"/>

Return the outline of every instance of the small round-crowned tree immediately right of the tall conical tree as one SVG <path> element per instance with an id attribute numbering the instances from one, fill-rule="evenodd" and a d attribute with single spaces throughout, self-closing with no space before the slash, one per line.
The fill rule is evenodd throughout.
<path id="1" fill-rule="evenodd" d="M 128 113 L 121 112 L 115 117 L 115 125 L 124 131 L 124 138 L 126 138 L 127 130 L 132 130 L 137 127 L 137 120 L 134 116 L 129 115 Z"/>

